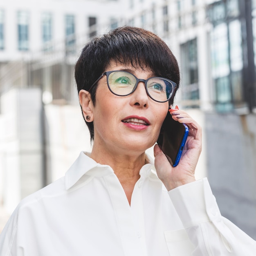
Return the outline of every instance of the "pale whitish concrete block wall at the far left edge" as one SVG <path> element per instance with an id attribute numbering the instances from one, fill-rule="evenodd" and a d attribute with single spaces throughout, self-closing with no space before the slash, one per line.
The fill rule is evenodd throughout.
<path id="1" fill-rule="evenodd" d="M 41 98 L 38 88 L 1 97 L 0 200 L 8 213 L 42 187 Z"/>

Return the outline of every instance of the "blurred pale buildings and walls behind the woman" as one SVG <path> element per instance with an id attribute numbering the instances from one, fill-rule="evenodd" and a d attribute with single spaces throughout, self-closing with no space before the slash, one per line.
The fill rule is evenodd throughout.
<path id="1" fill-rule="evenodd" d="M 0 232 L 22 198 L 90 151 L 74 64 L 88 40 L 123 25 L 172 49 L 175 104 L 203 128 L 196 177 L 256 239 L 256 0 L 1 1 Z"/>

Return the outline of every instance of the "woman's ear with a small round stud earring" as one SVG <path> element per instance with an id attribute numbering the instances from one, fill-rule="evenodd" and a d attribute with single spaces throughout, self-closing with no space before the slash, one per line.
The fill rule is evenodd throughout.
<path id="1" fill-rule="evenodd" d="M 90 116 L 90 120 L 87 122 L 93 121 L 93 104 L 91 94 L 88 91 L 80 90 L 79 91 L 79 102 L 83 111 L 83 117 L 86 120 L 86 116 Z"/>

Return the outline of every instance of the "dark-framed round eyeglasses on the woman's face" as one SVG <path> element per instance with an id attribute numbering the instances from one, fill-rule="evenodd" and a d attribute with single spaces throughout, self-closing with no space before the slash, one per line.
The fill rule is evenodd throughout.
<path id="1" fill-rule="evenodd" d="M 126 71 L 108 71 L 104 72 L 92 87 L 104 76 L 107 76 L 107 83 L 110 92 L 117 96 L 128 96 L 137 88 L 139 82 L 144 82 L 148 96 L 157 102 L 166 102 L 171 99 L 177 88 L 176 83 L 162 77 L 150 77 L 146 80 L 138 79 L 134 74 Z"/>

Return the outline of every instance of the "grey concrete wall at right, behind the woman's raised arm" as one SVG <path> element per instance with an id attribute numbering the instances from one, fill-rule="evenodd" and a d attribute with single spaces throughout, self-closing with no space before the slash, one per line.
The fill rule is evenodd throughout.
<path id="1" fill-rule="evenodd" d="M 209 182 L 223 216 L 256 239 L 256 115 L 205 115 Z"/>

